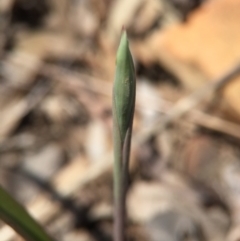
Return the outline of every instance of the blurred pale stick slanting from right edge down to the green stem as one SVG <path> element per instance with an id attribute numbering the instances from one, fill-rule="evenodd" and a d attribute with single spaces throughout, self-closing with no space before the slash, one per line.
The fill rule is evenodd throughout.
<path id="1" fill-rule="evenodd" d="M 207 95 L 221 90 L 229 81 L 240 74 L 240 64 L 235 66 L 232 70 L 226 73 L 223 77 L 206 84 L 200 90 L 196 90 L 191 95 L 180 99 L 164 117 L 159 118 L 149 128 L 140 131 L 135 136 L 133 143 L 141 145 L 151 136 L 161 133 L 174 120 L 180 118 L 187 112 L 191 111 L 197 104 L 199 104 Z"/>

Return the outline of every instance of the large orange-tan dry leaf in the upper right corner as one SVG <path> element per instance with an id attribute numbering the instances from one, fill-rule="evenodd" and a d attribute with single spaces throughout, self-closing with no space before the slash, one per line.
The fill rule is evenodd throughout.
<path id="1" fill-rule="evenodd" d="M 240 1 L 207 1 L 186 23 L 153 34 L 136 55 L 145 63 L 160 61 L 186 87 L 196 89 L 238 64 L 240 59 Z M 227 109 L 240 119 L 240 78 L 223 91 Z"/>

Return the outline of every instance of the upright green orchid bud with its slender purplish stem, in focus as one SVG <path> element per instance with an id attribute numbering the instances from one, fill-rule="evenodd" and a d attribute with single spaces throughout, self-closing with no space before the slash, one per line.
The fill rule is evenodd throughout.
<path id="1" fill-rule="evenodd" d="M 135 93 L 135 69 L 128 46 L 127 33 L 123 30 L 117 51 L 113 84 L 114 241 L 125 241 L 125 200 Z"/>

